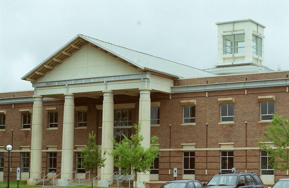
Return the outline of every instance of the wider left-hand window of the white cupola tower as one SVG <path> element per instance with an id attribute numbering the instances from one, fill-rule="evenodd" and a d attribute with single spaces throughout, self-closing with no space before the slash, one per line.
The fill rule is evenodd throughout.
<path id="1" fill-rule="evenodd" d="M 223 36 L 223 54 L 238 54 L 245 52 L 245 34 Z"/>

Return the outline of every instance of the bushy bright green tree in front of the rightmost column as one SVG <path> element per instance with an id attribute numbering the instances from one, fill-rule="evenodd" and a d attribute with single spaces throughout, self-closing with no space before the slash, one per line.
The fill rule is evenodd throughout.
<path id="1" fill-rule="evenodd" d="M 151 137 L 151 146 L 148 149 L 141 146 L 144 137 L 140 134 L 140 130 L 141 124 L 135 124 L 135 134 L 130 139 L 123 134 L 121 142 L 112 140 L 114 150 L 110 155 L 113 156 L 114 165 L 122 169 L 122 174 L 131 171 L 135 174 L 150 171 L 154 159 L 160 154 L 156 136 Z"/>

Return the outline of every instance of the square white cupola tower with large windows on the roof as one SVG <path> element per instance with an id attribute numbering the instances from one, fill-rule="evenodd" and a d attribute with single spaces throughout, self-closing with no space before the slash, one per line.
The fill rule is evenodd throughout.
<path id="1" fill-rule="evenodd" d="M 216 67 L 232 65 L 262 65 L 264 61 L 264 25 L 251 20 L 218 22 L 218 63 Z"/>

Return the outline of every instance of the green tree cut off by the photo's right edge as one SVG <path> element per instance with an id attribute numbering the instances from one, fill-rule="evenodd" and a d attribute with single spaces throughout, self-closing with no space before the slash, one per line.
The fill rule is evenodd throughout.
<path id="1" fill-rule="evenodd" d="M 263 133 L 263 136 L 273 142 L 276 149 L 266 146 L 264 140 L 259 142 L 259 149 L 268 152 L 269 164 L 274 169 L 280 169 L 281 171 L 289 169 L 289 121 L 284 119 L 283 116 L 275 115 L 266 129 L 267 131 Z"/>

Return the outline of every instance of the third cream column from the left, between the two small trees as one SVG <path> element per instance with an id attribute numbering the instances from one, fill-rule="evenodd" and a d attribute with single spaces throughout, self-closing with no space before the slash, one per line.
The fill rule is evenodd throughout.
<path id="1" fill-rule="evenodd" d="M 110 153 L 113 150 L 113 91 L 104 90 L 103 91 L 103 110 L 102 110 L 102 135 L 101 135 L 101 150 L 104 152 L 106 150 Z M 98 181 L 98 186 L 108 186 L 113 181 L 113 176 L 108 178 L 113 174 L 113 157 L 110 155 L 105 155 L 105 167 L 101 167 L 101 180 Z M 108 184 L 106 182 L 108 178 Z"/>

